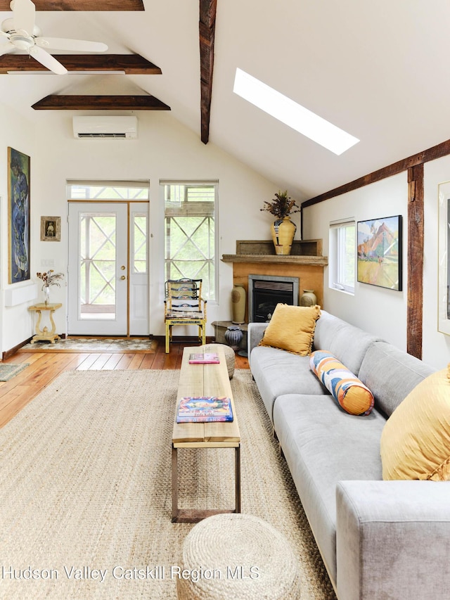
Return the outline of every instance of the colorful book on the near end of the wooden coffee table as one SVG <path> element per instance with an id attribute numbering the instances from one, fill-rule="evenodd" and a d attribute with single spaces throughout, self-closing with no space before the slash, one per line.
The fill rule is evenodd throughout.
<path id="1" fill-rule="evenodd" d="M 231 400 L 226 396 L 188 396 L 179 401 L 176 423 L 233 421 Z"/>

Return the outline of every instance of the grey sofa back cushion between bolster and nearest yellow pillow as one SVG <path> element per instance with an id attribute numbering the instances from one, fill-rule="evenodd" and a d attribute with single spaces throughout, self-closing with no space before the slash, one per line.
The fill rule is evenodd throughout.
<path id="1" fill-rule="evenodd" d="M 392 344 L 375 341 L 364 355 L 358 377 L 375 396 L 375 407 L 387 416 L 435 369 Z"/>

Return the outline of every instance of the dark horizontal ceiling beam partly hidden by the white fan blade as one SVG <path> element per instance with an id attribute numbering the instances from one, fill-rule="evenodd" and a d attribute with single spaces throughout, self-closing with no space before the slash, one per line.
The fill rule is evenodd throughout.
<path id="1" fill-rule="evenodd" d="M 54 54 L 68 71 L 124 71 L 125 75 L 160 75 L 161 69 L 139 54 Z M 27 54 L 0 56 L 0 75 L 8 71 L 47 71 Z"/>

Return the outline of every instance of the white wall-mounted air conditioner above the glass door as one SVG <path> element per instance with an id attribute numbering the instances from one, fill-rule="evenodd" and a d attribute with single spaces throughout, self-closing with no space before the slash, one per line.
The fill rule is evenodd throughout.
<path id="1" fill-rule="evenodd" d="M 77 139 L 136 139 L 137 117 L 73 117 Z"/>

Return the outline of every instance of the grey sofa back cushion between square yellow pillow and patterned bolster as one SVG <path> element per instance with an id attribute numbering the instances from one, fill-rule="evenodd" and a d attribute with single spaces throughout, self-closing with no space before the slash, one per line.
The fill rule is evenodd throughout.
<path id="1" fill-rule="evenodd" d="M 359 367 L 366 354 L 366 350 L 379 338 L 367 333 L 358 327 L 342 321 L 333 314 L 321 311 L 321 318 L 317 321 L 314 331 L 314 350 L 328 350 L 337 357 L 347 369 L 361 378 Z M 363 380 L 364 381 L 364 380 Z M 368 385 L 368 384 L 366 384 Z M 371 389 L 371 386 L 368 385 Z"/>

